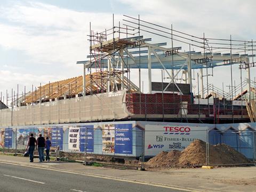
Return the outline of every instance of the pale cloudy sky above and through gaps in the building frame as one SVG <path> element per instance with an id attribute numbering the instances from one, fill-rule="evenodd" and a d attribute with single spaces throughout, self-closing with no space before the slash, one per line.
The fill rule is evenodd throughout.
<path id="1" fill-rule="evenodd" d="M 113 13 L 116 25 L 123 14 L 140 14 L 143 20 L 166 27 L 172 24 L 189 34 L 251 40 L 256 39 L 255 7 L 253 0 L 0 0 L 0 91 L 10 93 L 11 88 L 17 90 L 17 84 L 19 90 L 26 86 L 28 91 L 32 84 L 82 75 L 83 67 L 76 61 L 86 60 L 89 54 L 89 23 L 95 31 L 102 31 L 112 26 Z M 255 72 L 251 70 L 252 78 Z M 147 70 L 141 73 L 147 92 Z M 239 82 L 238 65 L 233 73 Z M 160 74 L 153 70 L 153 81 L 161 81 Z M 132 70 L 131 77 L 138 85 L 137 70 Z M 209 82 L 220 88 L 224 82 L 226 87 L 231 83 L 230 68 L 215 68 Z"/>

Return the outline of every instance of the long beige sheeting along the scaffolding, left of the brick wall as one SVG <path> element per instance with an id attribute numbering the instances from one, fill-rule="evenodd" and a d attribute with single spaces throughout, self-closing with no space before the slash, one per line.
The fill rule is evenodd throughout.
<path id="1" fill-rule="evenodd" d="M 0 126 L 121 119 L 130 115 L 126 90 L 0 110 Z"/>

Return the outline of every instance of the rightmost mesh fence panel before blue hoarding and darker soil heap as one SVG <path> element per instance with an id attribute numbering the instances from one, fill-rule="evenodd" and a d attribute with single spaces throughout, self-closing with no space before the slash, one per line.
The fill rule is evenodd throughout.
<path id="1" fill-rule="evenodd" d="M 207 165 L 246 166 L 256 164 L 256 131 L 228 129 L 209 130 Z"/>

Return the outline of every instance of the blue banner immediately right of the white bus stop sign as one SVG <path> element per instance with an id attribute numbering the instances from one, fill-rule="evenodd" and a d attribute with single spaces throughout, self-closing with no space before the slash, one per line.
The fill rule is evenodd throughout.
<path id="1" fill-rule="evenodd" d="M 87 152 L 93 152 L 94 147 L 94 125 L 82 125 L 80 127 L 80 151 L 85 150 L 87 148 Z M 86 136 L 87 129 L 87 136 Z M 85 142 L 87 140 L 87 146 L 85 146 Z"/>

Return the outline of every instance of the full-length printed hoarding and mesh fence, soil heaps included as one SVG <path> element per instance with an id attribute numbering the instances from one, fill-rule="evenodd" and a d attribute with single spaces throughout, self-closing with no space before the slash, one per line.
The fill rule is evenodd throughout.
<path id="1" fill-rule="evenodd" d="M 132 124 L 7 127 L 1 129 L 1 151 L 25 153 L 30 133 L 52 141 L 51 156 L 85 165 L 132 169 L 170 167 L 245 166 L 256 159 L 256 131 L 204 129 L 186 126 Z M 189 128 L 189 129 L 188 129 Z M 59 149 L 59 150 L 58 150 Z M 37 155 L 37 150 L 35 150 Z"/>

